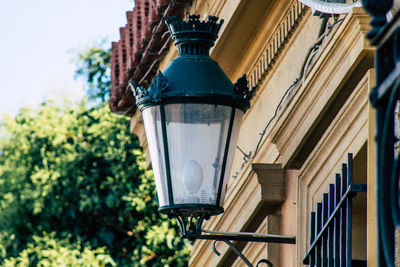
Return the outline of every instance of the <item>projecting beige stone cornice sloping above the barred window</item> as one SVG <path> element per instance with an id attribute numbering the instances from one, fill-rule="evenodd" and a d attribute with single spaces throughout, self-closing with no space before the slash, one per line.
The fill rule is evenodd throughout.
<path id="1" fill-rule="evenodd" d="M 369 20 L 360 8 L 347 15 L 318 55 L 303 86 L 292 94 L 288 106 L 273 125 L 271 142 L 276 144 L 284 167 L 296 157 L 346 79 L 357 71 L 364 57 L 373 53 L 365 39 L 370 29 Z"/>

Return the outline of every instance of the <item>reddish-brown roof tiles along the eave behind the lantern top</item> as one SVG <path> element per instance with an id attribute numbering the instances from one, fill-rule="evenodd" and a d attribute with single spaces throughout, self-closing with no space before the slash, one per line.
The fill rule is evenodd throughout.
<path id="1" fill-rule="evenodd" d="M 126 12 L 127 24 L 120 28 L 120 40 L 112 43 L 111 97 L 113 112 L 132 115 L 135 99 L 128 88 L 130 80 L 148 86 L 158 63 L 169 48 L 164 18 L 182 16 L 190 0 L 136 0 L 133 11 Z"/>

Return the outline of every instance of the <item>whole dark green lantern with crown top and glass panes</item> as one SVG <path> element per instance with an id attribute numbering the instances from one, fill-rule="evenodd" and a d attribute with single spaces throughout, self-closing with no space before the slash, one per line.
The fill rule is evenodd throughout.
<path id="1" fill-rule="evenodd" d="M 232 84 L 209 57 L 222 23 L 214 16 L 169 18 L 178 57 L 149 90 L 131 83 L 143 113 L 159 211 L 174 217 L 223 212 L 241 119 L 253 94 L 246 76 Z"/>

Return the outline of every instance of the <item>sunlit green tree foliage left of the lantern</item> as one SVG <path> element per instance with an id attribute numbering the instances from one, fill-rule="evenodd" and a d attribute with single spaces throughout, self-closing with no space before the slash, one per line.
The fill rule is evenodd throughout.
<path id="1" fill-rule="evenodd" d="M 186 265 L 129 118 L 87 106 L 48 100 L 1 122 L 0 263 Z"/>

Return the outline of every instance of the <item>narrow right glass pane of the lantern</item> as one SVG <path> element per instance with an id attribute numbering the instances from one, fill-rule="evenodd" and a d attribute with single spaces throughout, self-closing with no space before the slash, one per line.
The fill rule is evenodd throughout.
<path id="1" fill-rule="evenodd" d="M 225 192 L 226 192 L 226 184 L 228 183 L 229 177 L 231 175 L 233 156 L 235 155 L 235 151 L 236 151 L 236 144 L 237 144 L 237 139 L 239 137 L 240 125 L 242 124 L 242 118 L 243 118 L 243 111 L 241 111 L 240 109 L 236 109 L 235 117 L 234 117 L 234 121 L 233 121 L 233 126 L 232 126 L 231 139 L 230 139 L 230 142 L 229 142 L 228 158 L 226 160 L 226 167 L 225 167 L 226 171 L 225 171 L 225 174 L 224 174 L 221 198 L 220 198 L 220 203 L 219 203 L 219 205 L 221 207 L 224 204 Z"/>

